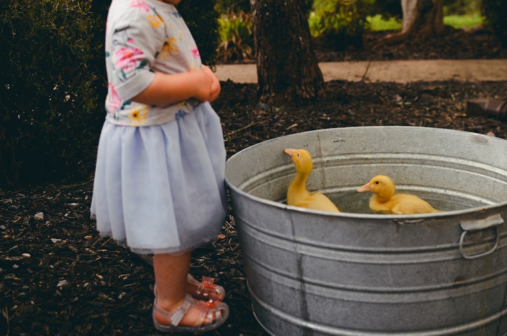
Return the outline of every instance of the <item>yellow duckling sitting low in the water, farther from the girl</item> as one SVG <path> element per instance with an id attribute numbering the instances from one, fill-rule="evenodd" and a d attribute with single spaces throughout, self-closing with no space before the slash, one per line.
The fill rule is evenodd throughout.
<path id="1" fill-rule="evenodd" d="M 394 182 L 384 175 L 375 176 L 357 191 L 371 191 L 375 194 L 370 198 L 370 209 L 375 211 L 394 214 L 440 212 L 415 195 L 396 193 Z"/>

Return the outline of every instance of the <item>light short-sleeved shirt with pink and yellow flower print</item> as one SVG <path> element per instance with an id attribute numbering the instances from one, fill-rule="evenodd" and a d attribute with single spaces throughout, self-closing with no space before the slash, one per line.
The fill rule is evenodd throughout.
<path id="1" fill-rule="evenodd" d="M 146 89 L 155 71 L 168 74 L 201 68 L 201 58 L 182 16 L 157 0 L 113 0 L 107 15 L 106 120 L 122 126 L 152 126 L 192 112 L 200 102 L 148 106 L 130 100 Z"/>

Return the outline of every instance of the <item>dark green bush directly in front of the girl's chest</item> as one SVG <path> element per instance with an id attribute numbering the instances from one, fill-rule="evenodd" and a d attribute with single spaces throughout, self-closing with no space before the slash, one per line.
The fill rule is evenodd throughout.
<path id="1" fill-rule="evenodd" d="M 219 46 L 219 17 L 214 9 L 216 0 L 185 0 L 178 4 L 178 12 L 185 19 L 194 37 L 203 64 L 214 68 Z"/>

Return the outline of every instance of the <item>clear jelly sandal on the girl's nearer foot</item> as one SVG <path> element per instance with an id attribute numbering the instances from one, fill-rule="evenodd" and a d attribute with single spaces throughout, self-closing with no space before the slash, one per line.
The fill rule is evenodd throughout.
<path id="1" fill-rule="evenodd" d="M 168 312 L 157 305 L 157 298 L 153 302 L 153 325 L 155 329 L 163 332 L 205 332 L 218 328 L 229 317 L 229 306 L 222 302 L 223 296 L 213 293 L 209 294 L 208 301 L 197 300 L 190 294 L 185 296 L 183 305 L 175 312 Z M 194 307 L 201 311 L 201 316 L 196 325 L 179 325 L 188 310 Z M 170 324 L 160 323 L 155 313 L 169 321 Z"/>

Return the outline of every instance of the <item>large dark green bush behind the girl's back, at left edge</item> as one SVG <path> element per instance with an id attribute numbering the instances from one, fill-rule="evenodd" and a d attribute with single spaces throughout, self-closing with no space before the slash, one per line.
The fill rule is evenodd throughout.
<path id="1" fill-rule="evenodd" d="M 98 0 L 0 6 L 0 184 L 72 176 L 104 119 L 105 17 L 92 12 L 104 6 Z"/>

